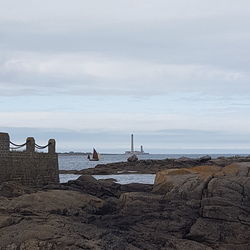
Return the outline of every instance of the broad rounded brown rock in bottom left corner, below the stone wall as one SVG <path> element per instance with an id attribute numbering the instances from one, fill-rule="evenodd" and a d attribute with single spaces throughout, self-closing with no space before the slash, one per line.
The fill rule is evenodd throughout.
<path id="1" fill-rule="evenodd" d="M 76 191 L 49 190 L 1 199 L 0 249 L 98 249 L 88 226 L 105 202 Z"/>

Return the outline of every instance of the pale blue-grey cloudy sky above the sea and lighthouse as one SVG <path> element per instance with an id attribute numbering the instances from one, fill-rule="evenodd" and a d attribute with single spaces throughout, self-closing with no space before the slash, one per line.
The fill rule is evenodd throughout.
<path id="1" fill-rule="evenodd" d="M 0 131 L 57 151 L 250 152 L 248 0 L 0 0 Z"/>

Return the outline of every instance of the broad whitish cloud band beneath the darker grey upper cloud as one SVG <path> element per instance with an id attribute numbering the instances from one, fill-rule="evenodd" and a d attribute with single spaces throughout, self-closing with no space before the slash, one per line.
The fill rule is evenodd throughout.
<path id="1" fill-rule="evenodd" d="M 2 95 L 247 94 L 249 74 L 210 65 L 116 60 L 87 53 L 19 53 L 0 63 Z M 13 90 L 13 92 L 12 92 Z"/>

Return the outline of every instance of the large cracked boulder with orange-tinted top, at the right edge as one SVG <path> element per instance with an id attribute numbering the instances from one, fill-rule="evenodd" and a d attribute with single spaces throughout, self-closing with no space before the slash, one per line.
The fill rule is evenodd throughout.
<path id="1" fill-rule="evenodd" d="M 199 166 L 157 173 L 153 191 L 167 201 L 198 204 L 186 238 L 220 249 L 250 248 L 250 164 Z M 197 210 L 194 209 L 194 213 Z"/>

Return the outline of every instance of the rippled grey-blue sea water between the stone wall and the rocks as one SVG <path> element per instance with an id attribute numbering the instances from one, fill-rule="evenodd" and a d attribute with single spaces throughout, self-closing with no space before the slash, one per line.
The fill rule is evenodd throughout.
<path id="1" fill-rule="evenodd" d="M 138 155 L 139 160 L 163 160 L 166 158 L 199 158 L 204 156 L 204 154 L 144 154 Z M 210 154 L 212 158 L 217 158 L 219 156 L 233 156 L 233 154 Z M 82 170 L 86 168 L 94 168 L 97 164 L 107 164 L 112 162 L 125 162 L 127 161 L 128 155 L 126 154 L 103 154 L 100 156 L 98 162 L 89 161 L 87 155 L 80 154 L 59 154 L 59 169 L 60 170 Z M 60 182 L 65 183 L 69 180 L 75 180 L 80 175 L 74 174 L 60 174 Z M 119 175 L 93 175 L 96 179 L 107 179 L 114 178 L 117 183 L 128 184 L 128 183 L 144 183 L 153 184 L 155 175 L 154 174 L 119 174 Z"/>

